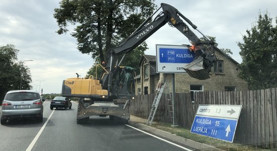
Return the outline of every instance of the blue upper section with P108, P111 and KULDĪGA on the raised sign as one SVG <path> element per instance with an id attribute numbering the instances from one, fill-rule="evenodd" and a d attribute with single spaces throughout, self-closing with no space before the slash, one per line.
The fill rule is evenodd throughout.
<path id="1" fill-rule="evenodd" d="M 194 58 L 188 49 L 160 48 L 159 52 L 161 63 L 190 63 Z"/>

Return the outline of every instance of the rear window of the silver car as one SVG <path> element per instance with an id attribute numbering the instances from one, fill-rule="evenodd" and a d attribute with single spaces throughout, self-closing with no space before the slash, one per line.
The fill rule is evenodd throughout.
<path id="1" fill-rule="evenodd" d="M 8 93 L 5 96 L 5 100 L 8 101 L 28 101 L 28 100 L 38 100 L 40 96 L 38 93 L 32 92 L 17 92 L 17 93 Z"/>

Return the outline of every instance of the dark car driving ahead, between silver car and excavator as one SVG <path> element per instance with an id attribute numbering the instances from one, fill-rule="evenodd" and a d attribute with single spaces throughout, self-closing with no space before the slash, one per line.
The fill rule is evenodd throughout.
<path id="1" fill-rule="evenodd" d="M 55 97 L 50 104 L 50 109 L 53 110 L 53 108 L 64 108 L 64 109 L 71 109 L 72 103 L 71 100 L 66 97 Z"/>

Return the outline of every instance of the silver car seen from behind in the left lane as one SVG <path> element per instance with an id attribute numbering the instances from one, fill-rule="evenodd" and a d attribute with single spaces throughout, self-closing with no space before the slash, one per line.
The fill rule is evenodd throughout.
<path id="1" fill-rule="evenodd" d="M 7 92 L 0 112 L 1 124 L 11 118 L 35 117 L 43 120 L 43 105 L 40 94 L 31 90 L 13 90 Z"/>

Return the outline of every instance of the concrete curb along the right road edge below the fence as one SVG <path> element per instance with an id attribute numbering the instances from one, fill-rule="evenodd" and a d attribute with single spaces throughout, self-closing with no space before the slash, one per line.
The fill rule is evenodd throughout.
<path id="1" fill-rule="evenodd" d="M 172 141 L 176 141 L 178 143 L 182 143 L 182 144 L 188 145 L 188 146 L 193 147 L 195 149 L 199 149 L 199 150 L 216 150 L 216 151 L 222 150 L 222 149 L 216 148 L 214 146 L 207 145 L 207 144 L 200 143 L 200 142 L 196 142 L 194 140 L 190 140 L 190 139 L 187 139 L 187 138 L 183 138 L 183 137 L 177 136 L 175 134 L 171 134 L 171 133 L 169 133 L 167 131 L 156 129 L 154 127 L 151 127 L 151 126 L 148 126 L 148 125 L 145 125 L 145 124 L 134 123 L 132 121 L 129 121 L 128 124 L 133 126 L 133 127 L 138 128 L 138 129 L 147 131 L 147 132 L 149 132 L 151 134 L 154 134 L 154 135 L 157 135 L 157 136 L 160 136 L 160 137 L 166 137 L 166 138 L 168 138 L 168 139 L 170 139 Z"/>

